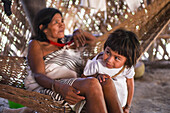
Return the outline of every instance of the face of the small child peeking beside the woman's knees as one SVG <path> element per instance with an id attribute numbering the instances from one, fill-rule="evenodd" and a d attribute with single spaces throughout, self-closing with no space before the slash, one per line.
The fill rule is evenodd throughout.
<path id="1" fill-rule="evenodd" d="M 103 54 L 103 61 L 107 68 L 120 68 L 126 62 L 126 57 L 106 47 Z"/>

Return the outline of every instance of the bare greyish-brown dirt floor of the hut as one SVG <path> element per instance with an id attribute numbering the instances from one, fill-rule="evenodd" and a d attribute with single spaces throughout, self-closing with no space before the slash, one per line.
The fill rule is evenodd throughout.
<path id="1" fill-rule="evenodd" d="M 1 108 L 8 107 L 0 99 Z M 131 113 L 170 113 L 170 61 L 145 62 L 145 73 L 135 79 Z"/>

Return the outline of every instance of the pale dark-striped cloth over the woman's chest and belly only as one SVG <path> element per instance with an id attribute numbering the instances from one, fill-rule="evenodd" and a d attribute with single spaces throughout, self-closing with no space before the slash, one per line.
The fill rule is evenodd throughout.
<path id="1" fill-rule="evenodd" d="M 56 56 L 50 58 L 51 56 Z M 76 61 L 76 62 L 75 62 Z M 76 64 L 77 63 L 77 64 Z M 81 66 L 82 59 L 80 53 L 73 49 L 62 49 L 56 53 L 48 55 L 45 59 L 46 75 L 52 79 L 57 78 L 76 78 L 76 67 Z"/>

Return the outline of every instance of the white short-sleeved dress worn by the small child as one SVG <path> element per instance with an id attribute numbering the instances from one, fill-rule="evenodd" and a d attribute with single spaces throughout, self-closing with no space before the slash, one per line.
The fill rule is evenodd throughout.
<path id="1" fill-rule="evenodd" d="M 93 60 L 87 61 L 87 64 L 83 72 L 85 76 L 94 75 L 97 73 L 114 76 L 123 68 L 122 66 L 121 68 L 109 69 L 104 66 L 104 63 L 102 62 L 101 59 L 96 60 L 96 58 L 97 57 L 95 57 Z M 134 75 L 135 75 L 134 67 L 132 66 L 130 69 L 125 68 L 122 73 L 120 73 L 117 77 L 115 77 L 116 80 L 113 80 L 122 107 L 126 105 L 127 95 L 128 95 L 126 78 L 129 79 L 133 78 Z"/>

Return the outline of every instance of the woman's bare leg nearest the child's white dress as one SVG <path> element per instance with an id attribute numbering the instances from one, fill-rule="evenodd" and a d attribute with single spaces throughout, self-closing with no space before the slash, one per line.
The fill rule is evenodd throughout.
<path id="1" fill-rule="evenodd" d="M 123 113 L 113 81 L 111 79 L 107 79 L 105 82 L 102 82 L 101 85 L 108 112 Z"/>

